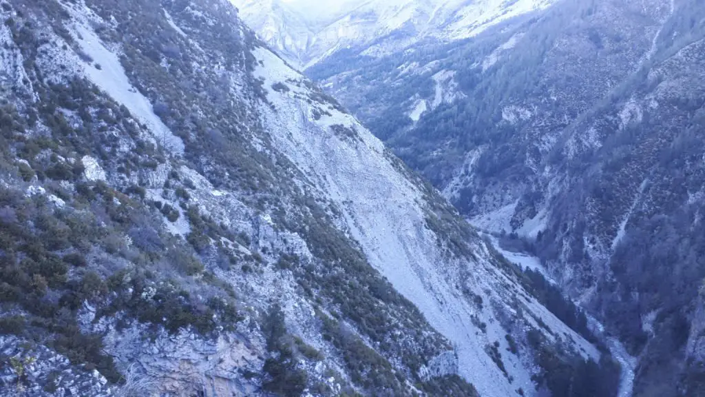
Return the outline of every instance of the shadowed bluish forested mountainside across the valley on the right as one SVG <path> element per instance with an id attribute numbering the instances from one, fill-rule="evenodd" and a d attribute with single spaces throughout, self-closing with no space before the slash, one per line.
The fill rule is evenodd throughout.
<path id="1" fill-rule="evenodd" d="M 472 40 L 341 52 L 307 73 L 472 223 L 526 239 L 639 356 L 636 395 L 697 394 L 704 12 L 558 1 Z"/>

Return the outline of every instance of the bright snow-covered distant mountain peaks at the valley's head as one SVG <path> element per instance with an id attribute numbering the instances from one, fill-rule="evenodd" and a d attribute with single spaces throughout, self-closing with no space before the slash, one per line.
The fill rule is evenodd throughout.
<path id="1" fill-rule="evenodd" d="M 391 54 L 418 40 L 462 40 L 504 20 L 539 11 L 556 0 L 231 0 L 258 35 L 290 64 L 313 66 L 339 49 L 370 45 L 370 56 Z M 337 5 L 337 6 L 336 6 Z M 411 37 L 375 42 L 412 25 Z M 394 44 L 396 43 L 396 45 Z M 508 43 L 512 45 L 512 43 Z"/>

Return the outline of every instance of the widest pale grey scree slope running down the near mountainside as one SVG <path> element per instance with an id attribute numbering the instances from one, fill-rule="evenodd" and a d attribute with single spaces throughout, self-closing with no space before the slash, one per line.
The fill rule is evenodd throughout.
<path id="1" fill-rule="evenodd" d="M 491 265 L 484 243 L 479 239 L 473 243 L 478 255 L 475 261 L 448 259 L 438 247 L 436 235 L 425 227 L 421 192 L 393 166 L 384 145 L 349 114 L 302 100 L 309 95 L 305 85 L 297 83 L 302 76 L 269 50 L 255 49 L 255 57 L 262 64 L 255 77 L 264 79 L 268 100 L 274 105 L 274 109 L 262 105 L 264 125 L 274 146 L 341 208 L 345 227 L 360 242 L 372 266 L 457 346 L 460 375 L 485 397 L 512 396 L 520 387 L 534 390 L 527 369 L 531 363 L 505 351 L 507 331 L 493 312 L 515 312 L 510 302 L 522 292 Z M 274 83 L 286 83 L 290 90 L 273 90 Z M 316 119 L 316 106 L 326 107 L 331 115 Z M 332 134 L 329 127 L 335 124 L 355 129 L 359 139 Z M 470 273 L 469 280 L 460 278 L 462 271 Z M 462 295 L 458 285 L 464 281 L 488 302 L 484 308 L 479 309 Z M 525 308 L 556 334 L 570 335 L 576 350 L 598 354 L 535 300 L 527 300 Z M 473 316 L 486 323 L 486 333 L 473 323 Z M 502 359 L 514 378 L 512 383 L 485 352 L 486 346 L 495 341 L 501 343 Z"/>

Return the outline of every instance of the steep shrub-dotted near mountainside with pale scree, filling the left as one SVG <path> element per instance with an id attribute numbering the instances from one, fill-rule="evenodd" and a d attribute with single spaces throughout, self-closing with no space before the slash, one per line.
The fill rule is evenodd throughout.
<path id="1" fill-rule="evenodd" d="M 4 395 L 509 396 L 599 360 L 227 1 L 0 15 Z"/>

